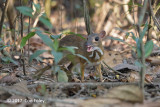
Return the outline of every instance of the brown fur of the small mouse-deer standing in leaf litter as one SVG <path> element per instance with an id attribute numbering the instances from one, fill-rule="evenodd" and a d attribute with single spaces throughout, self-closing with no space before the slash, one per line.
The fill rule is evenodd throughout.
<path id="1" fill-rule="evenodd" d="M 102 81 L 102 73 L 101 73 L 101 60 L 103 59 L 103 54 L 101 54 L 101 52 L 95 50 L 93 52 L 93 56 L 90 57 L 90 55 L 92 54 L 92 52 L 87 52 L 87 46 L 93 46 L 93 47 L 98 47 L 102 50 L 102 52 L 104 53 L 104 49 L 102 47 L 102 38 L 105 36 L 105 31 L 101 32 L 100 34 L 91 34 L 88 36 L 87 39 L 82 39 L 79 36 L 76 35 L 67 35 L 64 38 L 62 38 L 60 40 L 60 46 L 74 46 L 77 47 L 78 49 L 76 49 L 75 53 L 76 54 L 80 54 L 83 55 L 84 57 L 86 57 L 91 63 L 94 63 L 96 66 L 96 70 L 99 72 L 99 76 L 100 76 L 100 81 Z M 95 41 L 95 37 L 99 37 L 98 41 Z M 96 52 L 98 54 L 98 58 L 99 59 L 95 59 L 96 57 Z M 70 54 L 69 52 L 65 52 L 65 56 L 64 58 L 60 61 L 59 64 L 65 64 L 67 61 L 69 62 L 68 58 L 66 57 L 66 55 Z M 84 81 L 84 68 L 86 65 L 86 60 L 75 56 L 74 61 L 72 61 L 73 66 L 77 63 L 80 63 L 81 66 L 81 81 Z M 72 67 L 71 67 L 72 68 Z"/>

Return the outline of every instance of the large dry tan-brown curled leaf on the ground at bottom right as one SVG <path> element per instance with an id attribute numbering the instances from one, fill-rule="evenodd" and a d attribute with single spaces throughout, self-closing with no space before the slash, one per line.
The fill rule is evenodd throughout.
<path id="1" fill-rule="evenodd" d="M 134 85 L 124 85 L 112 88 L 106 94 L 106 97 L 130 102 L 143 102 L 142 91 L 138 86 Z"/>

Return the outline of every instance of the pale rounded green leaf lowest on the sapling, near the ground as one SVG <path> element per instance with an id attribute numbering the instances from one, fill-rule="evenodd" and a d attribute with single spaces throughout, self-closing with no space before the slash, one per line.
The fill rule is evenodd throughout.
<path id="1" fill-rule="evenodd" d="M 68 82 L 68 77 L 66 72 L 62 70 L 58 71 L 58 82 Z"/>

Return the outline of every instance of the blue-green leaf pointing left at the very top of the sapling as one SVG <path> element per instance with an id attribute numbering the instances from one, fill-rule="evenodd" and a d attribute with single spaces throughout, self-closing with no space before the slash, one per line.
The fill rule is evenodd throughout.
<path id="1" fill-rule="evenodd" d="M 18 6 L 18 7 L 16 7 L 16 9 L 17 9 L 20 13 L 22 13 L 23 15 L 25 15 L 25 16 L 30 16 L 30 17 L 33 16 L 33 15 L 32 15 L 33 9 L 30 8 L 30 7 L 27 7 L 27 6 Z"/>

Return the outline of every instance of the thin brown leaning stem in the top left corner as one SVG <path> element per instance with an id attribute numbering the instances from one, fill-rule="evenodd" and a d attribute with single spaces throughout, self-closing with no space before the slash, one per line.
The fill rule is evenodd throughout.
<path id="1" fill-rule="evenodd" d="M 5 6 L 2 7 L 2 16 L 1 16 L 1 22 L 0 22 L 0 38 L 2 38 L 2 29 L 3 29 L 3 22 L 4 22 L 4 17 L 5 17 L 5 13 L 7 11 L 7 7 L 8 7 L 8 0 L 6 0 L 5 2 Z"/>

